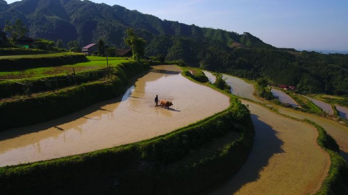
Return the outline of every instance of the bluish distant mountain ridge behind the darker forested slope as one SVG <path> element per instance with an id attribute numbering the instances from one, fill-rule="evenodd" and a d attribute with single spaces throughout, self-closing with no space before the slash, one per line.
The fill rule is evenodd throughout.
<path id="1" fill-rule="evenodd" d="M 233 43 L 243 47 L 268 45 L 251 34 L 239 35 L 220 29 L 201 28 L 131 11 L 121 6 L 96 4 L 79 0 L 23 0 L 10 5 L 0 0 L 0 26 L 5 20 L 20 18 L 30 29 L 30 36 L 65 43 L 78 39 L 84 44 L 103 38 L 107 43 L 124 47 L 127 28 L 135 28 L 148 41 L 156 35 L 205 37 L 227 46 Z"/>

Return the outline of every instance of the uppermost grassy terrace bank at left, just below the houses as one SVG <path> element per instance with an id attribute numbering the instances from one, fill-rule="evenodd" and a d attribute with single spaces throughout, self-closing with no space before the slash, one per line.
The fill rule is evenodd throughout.
<path id="1" fill-rule="evenodd" d="M 0 56 L 0 71 L 54 67 L 85 61 L 88 59 L 84 54 L 73 52 Z"/>

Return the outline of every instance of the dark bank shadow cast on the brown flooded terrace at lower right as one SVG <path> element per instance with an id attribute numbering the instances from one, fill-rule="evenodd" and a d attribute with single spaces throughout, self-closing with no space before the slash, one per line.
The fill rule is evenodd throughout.
<path id="1" fill-rule="evenodd" d="M 277 132 L 268 124 L 258 119 L 258 116 L 250 114 L 255 127 L 255 138 L 252 150 L 242 168 L 227 182 L 213 187 L 204 194 L 234 194 L 243 185 L 259 179 L 259 172 L 268 165 L 268 160 L 277 153 L 282 153 L 283 141 L 276 136 Z"/>

